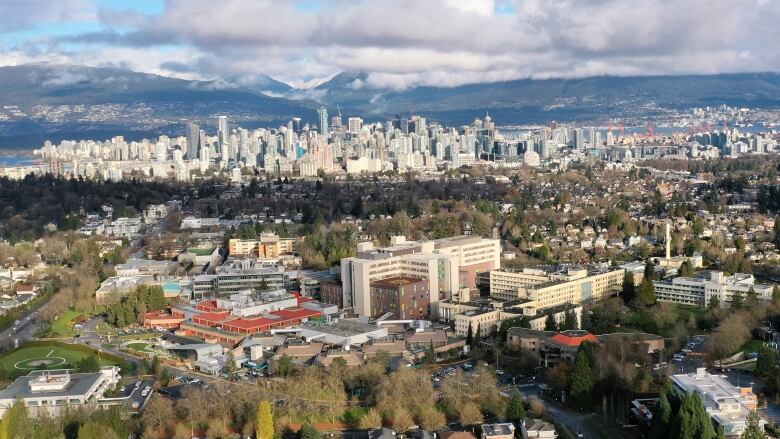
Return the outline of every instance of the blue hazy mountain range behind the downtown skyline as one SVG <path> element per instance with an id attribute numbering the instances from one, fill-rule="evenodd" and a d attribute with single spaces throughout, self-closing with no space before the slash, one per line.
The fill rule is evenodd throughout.
<path id="1" fill-rule="evenodd" d="M 198 81 L 106 67 L 0 67 L 0 147 L 181 134 L 185 120 L 213 131 L 218 114 L 249 128 L 277 126 L 295 116 L 315 123 L 320 105 L 331 114 L 367 120 L 413 112 L 449 125 L 486 112 L 499 124 L 522 124 L 645 117 L 721 104 L 780 108 L 777 73 L 520 79 L 406 90 L 372 87 L 370 79 L 367 73 L 344 72 L 302 90 L 267 76 Z"/>

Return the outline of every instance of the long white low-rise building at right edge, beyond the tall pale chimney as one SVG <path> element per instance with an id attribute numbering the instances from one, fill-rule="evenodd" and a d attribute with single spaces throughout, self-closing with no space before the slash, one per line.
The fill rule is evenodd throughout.
<path id="1" fill-rule="evenodd" d="M 704 271 L 696 277 L 676 277 L 653 282 L 659 301 L 683 305 L 707 306 L 715 298 L 720 305 L 731 306 L 735 295 L 744 301 L 750 290 L 759 300 L 771 301 L 774 287 L 758 285 L 752 274 L 726 276 L 720 271 Z"/>

